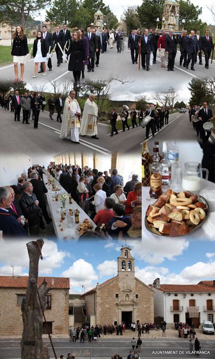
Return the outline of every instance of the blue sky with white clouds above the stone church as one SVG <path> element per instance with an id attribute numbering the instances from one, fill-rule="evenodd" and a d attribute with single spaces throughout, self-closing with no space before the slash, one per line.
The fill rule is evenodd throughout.
<path id="1" fill-rule="evenodd" d="M 28 275 L 25 242 L 1 242 L 0 275 Z M 185 239 L 155 239 L 131 244 L 135 276 L 146 284 L 160 278 L 161 284 L 197 284 L 215 279 L 215 243 Z M 43 245 L 40 276 L 70 278 L 70 293 L 83 293 L 117 275 L 119 243 L 56 243 Z M 83 288 L 84 286 L 85 288 Z"/>

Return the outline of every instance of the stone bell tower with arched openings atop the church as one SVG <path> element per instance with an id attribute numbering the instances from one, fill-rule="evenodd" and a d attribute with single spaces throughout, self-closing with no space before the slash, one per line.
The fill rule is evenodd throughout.
<path id="1" fill-rule="evenodd" d="M 122 245 L 121 255 L 117 258 L 118 261 L 118 276 L 120 279 L 134 278 L 134 258 L 130 254 L 131 248 Z"/>

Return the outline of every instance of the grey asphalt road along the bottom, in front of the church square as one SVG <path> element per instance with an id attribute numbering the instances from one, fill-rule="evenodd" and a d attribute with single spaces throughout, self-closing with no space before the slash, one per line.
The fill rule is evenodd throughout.
<path id="1" fill-rule="evenodd" d="M 75 359 L 109 359 L 111 356 L 118 353 L 123 359 L 127 358 L 129 351 L 131 350 L 131 339 L 121 340 L 117 338 L 107 339 L 98 338 L 97 342 L 89 343 L 70 343 L 66 338 L 53 339 L 54 348 L 57 357 L 63 354 L 64 358 L 68 353 L 74 355 Z M 183 358 L 189 359 L 189 339 L 143 339 L 141 346 L 141 358 L 144 359 L 175 359 Z M 52 351 L 50 342 L 48 339 L 44 339 L 46 345 L 48 345 L 50 359 L 54 359 L 54 353 Z M 215 358 L 215 341 L 205 339 L 200 340 L 201 354 L 199 358 L 214 359 Z M 162 353 L 160 353 L 162 352 Z M 20 339 L 1 339 L 0 340 L 0 358 L 1 359 L 20 359 Z"/>

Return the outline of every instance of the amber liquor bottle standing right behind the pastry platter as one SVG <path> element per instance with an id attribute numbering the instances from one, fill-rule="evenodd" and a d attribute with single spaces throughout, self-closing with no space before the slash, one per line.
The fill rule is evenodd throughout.
<path id="1" fill-rule="evenodd" d="M 153 147 L 153 162 L 150 165 L 150 197 L 158 198 L 162 194 L 162 165 L 159 163 L 160 157 L 158 147 Z"/>

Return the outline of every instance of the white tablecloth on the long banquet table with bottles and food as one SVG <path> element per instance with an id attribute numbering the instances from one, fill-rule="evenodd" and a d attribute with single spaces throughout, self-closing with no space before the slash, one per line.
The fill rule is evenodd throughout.
<path id="1" fill-rule="evenodd" d="M 79 226 L 79 224 L 81 222 L 84 221 L 85 218 L 87 218 L 92 224 L 93 224 L 93 228 L 96 227 L 95 223 L 93 223 L 93 221 L 89 218 L 88 215 L 86 215 L 86 213 L 83 211 L 83 209 L 72 199 L 72 204 L 69 204 L 69 199 L 66 199 L 65 201 L 65 211 L 68 210 L 69 208 L 73 209 L 73 207 L 77 208 L 79 211 L 79 224 L 75 223 L 75 216 L 73 215 L 73 219 L 74 222 L 71 223 L 70 225 L 67 224 L 67 219 L 65 216 L 65 219 L 63 220 L 63 222 L 60 222 L 61 220 L 61 212 L 60 209 L 62 207 L 62 202 L 61 201 L 56 201 L 55 200 L 55 195 L 56 193 L 59 194 L 59 192 L 65 192 L 67 193 L 64 188 L 60 185 L 60 183 L 58 181 L 55 181 L 55 186 L 57 188 L 59 188 L 60 191 L 52 191 L 52 184 L 48 185 L 48 177 L 46 175 L 43 175 L 43 181 L 46 184 L 46 188 L 48 190 L 48 192 L 46 193 L 47 196 L 47 202 L 49 205 L 49 209 L 50 209 L 50 214 L 52 217 L 52 223 L 54 226 L 54 230 L 55 230 L 55 234 L 57 239 L 78 239 L 79 235 L 77 233 L 77 227 Z M 73 213 L 75 211 L 73 210 Z M 63 229 L 63 231 L 62 231 Z"/>

